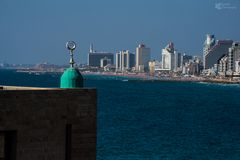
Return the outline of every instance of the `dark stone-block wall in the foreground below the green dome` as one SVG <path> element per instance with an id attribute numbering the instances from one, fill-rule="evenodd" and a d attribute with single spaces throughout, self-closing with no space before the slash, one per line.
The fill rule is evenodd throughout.
<path id="1" fill-rule="evenodd" d="M 15 131 L 17 160 L 96 159 L 95 89 L 16 89 L 0 87 L 0 133 Z"/>

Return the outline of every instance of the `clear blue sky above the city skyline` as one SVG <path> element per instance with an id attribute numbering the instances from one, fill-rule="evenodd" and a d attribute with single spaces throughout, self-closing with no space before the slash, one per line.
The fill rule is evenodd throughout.
<path id="1" fill-rule="evenodd" d="M 239 18 L 240 0 L 0 0 L 0 62 L 67 64 L 69 40 L 78 63 L 90 43 L 112 53 L 143 43 L 160 60 L 173 42 L 201 56 L 208 33 L 240 41 Z"/>

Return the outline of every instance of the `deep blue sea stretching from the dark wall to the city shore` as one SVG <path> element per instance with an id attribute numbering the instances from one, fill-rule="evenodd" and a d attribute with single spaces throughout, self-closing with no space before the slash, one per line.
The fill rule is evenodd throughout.
<path id="1" fill-rule="evenodd" d="M 0 85 L 59 82 L 0 70 Z M 98 160 L 240 160 L 239 84 L 84 75 L 84 86 L 98 92 Z"/>

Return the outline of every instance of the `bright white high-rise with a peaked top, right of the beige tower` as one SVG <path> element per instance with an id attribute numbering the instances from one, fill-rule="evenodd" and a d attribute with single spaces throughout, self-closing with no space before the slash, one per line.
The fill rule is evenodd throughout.
<path id="1" fill-rule="evenodd" d="M 162 70 L 172 71 L 174 69 L 174 44 L 170 42 L 162 49 Z"/>

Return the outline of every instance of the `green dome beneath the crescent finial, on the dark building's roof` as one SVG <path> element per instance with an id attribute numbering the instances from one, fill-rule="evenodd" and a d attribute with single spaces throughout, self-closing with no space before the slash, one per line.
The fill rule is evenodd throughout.
<path id="1" fill-rule="evenodd" d="M 68 68 L 61 76 L 60 88 L 81 88 L 83 87 L 83 77 L 78 69 Z"/>

